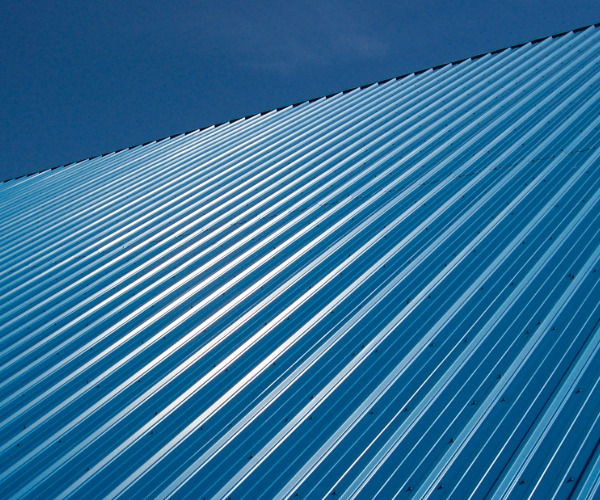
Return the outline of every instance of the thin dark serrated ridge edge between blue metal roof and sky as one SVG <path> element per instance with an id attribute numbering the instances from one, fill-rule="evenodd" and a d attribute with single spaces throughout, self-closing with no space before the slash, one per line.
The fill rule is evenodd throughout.
<path id="1" fill-rule="evenodd" d="M 260 113 L 254 113 L 252 115 L 242 116 L 240 118 L 235 118 L 234 120 L 229 120 L 229 121 L 217 123 L 217 124 L 214 124 L 214 125 L 207 125 L 206 127 L 196 128 L 196 129 L 193 129 L 193 130 L 189 130 L 188 132 L 180 132 L 178 134 L 173 134 L 173 135 L 170 135 L 170 136 L 167 136 L 167 137 L 163 137 L 162 139 L 148 141 L 148 142 L 145 142 L 143 144 L 136 144 L 135 146 L 130 146 L 128 148 L 117 149 L 115 151 L 110 151 L 110 152 L 104 153 L 102 155 L 96 155 L 96 156 L 92 156 L 90 158 L 84 158 L 83 160 L 78 160 L 78 161 L 72 161 L 70 163 L 65 163 L 64 165 L 57 165 L 56 167 L 52 167 L 52 168 L 49 168 L 49 169 L 46 169 L 46 170 L 40 170 L 38 172 L 32 172 L 30 174 L 23 174 L 23 175 L 20 175 L 18 177 L 11 177 L 10 179 L 3 180 L 2 183 L 9 182 L 9 181 L 16 181 L 17 179 L 21 179 L 23 177 L 29 177 L 30 175 L 41 173 L 41 172 L 46 172 L 47 170 L 56 170 L 57 168 L 60 168 L 60 167 L 68 167 L 70 165 L 74 165 L 76 163 L 81 163 L 81 162 L 86 161 L 86 160 L 90 161 L 90 160 L 93 160 L 95 158 L 98 158 L 99 156 L 102 156 L 102 157 L 107 156 L 110 153 L 115 153 L 116 154 L 116 153 L 120 153 L 121 151 L 132 150 L 134 148 L 137 148 L 138 146 L 147 146 L 148 144 L 151 144 L 153 142 L 160 142 L 160 141 L 163 141 L 165 139 L 174 139 L 174 138 L 179 137 L 179 136 L 189 135 L 189 134 L 191 134 L 193 132 L 201 132 L 202 130 L 206 130 L 206 129 L 211 128 L 211 127 L 215 127 L 216 128 L 216 127 L 219 127 L 219 126 L 224 125 L 226 123 L 230 124 L 230 123 L 237 122 L 239 120 L 248 120 L 248 119 L 253 118 L 255 116 L 264 116 L 264 115 L 266 115 L 268 113 L 271 113 L 272 111 L 277 112 L 277 111 L 281 111 L 281 110 L 286 109 L 286 108 L 296 108 L 296 107 L 298 107 L 298 106 L 300 106 L 302 104 L 307 104 L 307 103 L 311 104 L 313 102 L 319 101 L 320 99 L 329 99 L 329 98 L 331 98 L 333 96 L 336 96 L 336 95 L 347 94 L 349 92 L 352 92 L 353 90 L 357 90 L 357 89 L 363 90 L 363 89 L 369 88 L 369 87 L 371 87 L 373 85 L 383 85 L 384 83 L 387 83 L 387 82 L 392 81 L 392 80 L 402 80 L 402 79 L 404 79 L 404 78 L 406 78 L 407 76 L 410 76 L 410 75 L 415 75 L 415 76 L 421 75 L 421 74 L 423 74 L 423 73 L 425 73 L 426 71 L 429 71 L 429 70 L 437 71 L 438 69 L 441 69 L 441 68 L 443 68 L 445 66 L 448 66 L 448 65 L 456 66 L 456 65 L 458 65 L 460 63 L 465 62 L 467 59 L 470 59 L 472 61 L 476 61 L 477 59 L 480 59 L 483 56 L 486 56 L 488 54 L 489 55 L 496 55 L 496 54 L 499 54 L 500 52 L 504 52 L 505 50 L 508 50 L 508 49 L 513 49 L 514 50 L 514 49 L 521 48 L 524 45 L 527 45 L 528 43 L 536 44 L 536 43 L 543 42 L 544 40 L 547 40 L 549 38 L 552 38 L 552 39 L 554 39 L 554 38 L 560 38 L 561 36 L 565 36 L 565 35 L 567 35 L 567 34 L 569 34 L 571 32 L 573 32 L 573 33 L 580 33 L 580 32 L 585 31 L 585 30 L 587 30 L 588 28 L 591 28 L 591 27 L 600 28 L 600 23 L 588 24 L 586 26 L 582 26 L 581 28 L 576 28 L 576 29 L 573 29 L 573 30 L 563 31 L 561 33 L 556 33 L 556 34 L 550 35 L 550 36 L 544 36 L 544 37 L 541 37 L 541 38 L 536 38 L 535 40 L 531 40 L 529 42 L 523 42 L 523 43 L 519 43 L 517 45 L 511 45 L 509 47 L 504 47 L 504 48 L 501 48 L 501 49 L 496 49 L 496 50 L 494 50 L 492 52 L 484 52 L 483 54 L 478 54 L 478 55 L 472 56 L 472 57 L 466 57 L 464 59 L 458 59 L 458 60 L 452 61 L 450 63 L 439 64 L 437 66 L 432 66 L 430 68 L 421 69 L 419 71 L 413 71 L 411 73 L 405 73 L 405 74 L 400 75 L 400 76 L 395 76 L 395 77 L 392 77 L 392 78 L 387 78 L 385 80 L 380 80 L 378 82 L 372 82 L 372 83 L 369 83 L 367 85 L 361 85 L 359 87 L 353 87 L 353 88 L 350 88 L 350 89 L 347 89 L 347 90 L 343 90 L 341 92 L 334 92 L 333 94 L 328 94 L 328 95 L 325 95 L 325 96 L 313 97 L 312 99 L 306 99 L 304 101 L 299 101 L 299 102 L 297 102 L 295 104 L 288 104 L 287 106 L 282 106 L 282 107 L 279 107 L 279 108 L 273 108 L 273 109 L 270 109 L 268 111 L 263 111 L 263 112 L 260 112 Z"/>

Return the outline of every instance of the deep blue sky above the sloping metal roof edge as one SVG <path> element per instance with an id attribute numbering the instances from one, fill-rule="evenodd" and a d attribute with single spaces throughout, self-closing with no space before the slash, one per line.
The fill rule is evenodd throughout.
<path id="1" fill-rule="evenodd" d="M 597 22 L 598 0 L 5 0 L 0 180 Z"/>

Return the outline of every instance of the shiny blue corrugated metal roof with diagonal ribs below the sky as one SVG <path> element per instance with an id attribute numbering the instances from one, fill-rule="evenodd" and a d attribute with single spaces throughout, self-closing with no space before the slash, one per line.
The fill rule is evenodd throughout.
<path id="1" fill-rule="evenodd" d="M 2 498 L 597 496 L 599 63 L 592 26 L 0 185 Z"/>

